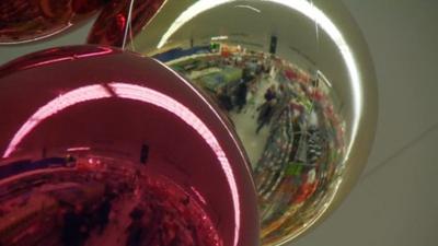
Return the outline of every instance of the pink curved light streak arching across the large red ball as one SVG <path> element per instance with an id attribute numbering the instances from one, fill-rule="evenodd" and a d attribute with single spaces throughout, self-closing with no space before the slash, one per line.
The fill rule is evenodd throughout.
<path id="1" fill-rule="evenodd" d="M 224 151 L 220 147 L 218 140 L 210 131 L 210 129 L 189 108 L 163 93 L 160 93 L 149 87 L 127 83 L 110 83 L 108 86 L 113 90 L 116 97 L 152 104 L 176 115 L 184 122 L 195 129 L 199 133 L 199 136 L 203 137 L 206 143 L 215 152 L 216 157 L 226 174 L 228 185 L 231 190 L 235 224 L 234 245 L 237 245 L 239 241 L 239 231 L 241 223 L 238 186 L 230 162 L 228 161 Z M 55 114 L 66 109 L 67 107 L 73 106 L 79 103 L 107 98 L 112 96 L 113 95 L 110 94 L 105 86 L 95 84 L 76 89 L 64 95 L 58 96 L 57 98 L 54 98 L 43 107 L 38 108 L 38 110 L 36 110 L 22 125 L 22 127 L 8 144 L 8 148 L 3 153 L 3 159 L 9 157 L 30 132 L 50 116 L 54 116 Z"/>

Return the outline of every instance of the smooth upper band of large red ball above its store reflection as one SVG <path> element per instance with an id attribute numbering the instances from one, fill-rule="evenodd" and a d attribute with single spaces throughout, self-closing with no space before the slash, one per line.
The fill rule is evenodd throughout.
<path id="1" fill-rule="evenodd" d="M 163 65 L 97 46 L 33 54 L 0 68 L 0 112 L 2 161 L 82 148 L 137 163 L 147 143 L 147 167 L 197 198 L 218 242 L 258 245 L 255 189 L 235 134 Z"/>

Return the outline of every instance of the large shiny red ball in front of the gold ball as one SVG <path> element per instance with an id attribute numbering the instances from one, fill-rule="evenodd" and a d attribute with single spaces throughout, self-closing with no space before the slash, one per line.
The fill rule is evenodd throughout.
<path id="1" fill-rule="evenodd" d="M 250 169 L 214 109 L 161 63 L 116 49 L 1 67 L 0 243 L 258 245 Z"/>

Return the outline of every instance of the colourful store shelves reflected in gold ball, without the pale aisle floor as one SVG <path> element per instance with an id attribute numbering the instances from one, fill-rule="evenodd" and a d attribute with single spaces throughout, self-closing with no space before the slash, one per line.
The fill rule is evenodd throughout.
<path id="1" fill-rule="evenodd" d="M 276 85 L 274 114 L 262 125 L 268 129 L 267 140 L 261 157 L 253 163 L 262 234 L 270 237 L 303 226 L 327 202 L 326 191 L 332 190 L 330 185 L 342 168 L 342 121 L 336 112 L 338 105 L 333 105 L 330 85 L 321 81 L 318 72 L 304 71 L 263 52 L 235 50 L 227 56 L 196 59 L 174 66 L 180 66 L 180 72 L 214 95 L 227 91 L 228 96 L 235 97 L 235 85 L 245 80 L 245 74 L 251 74 L 254 81 L 266 79 L 267 86 L 258 87 L 257 101 L 253 97 L 253 102 L 247 102 L 256 108 L 267 102 L 263 98 L 266 90 Z M 229 67 L 240 69 L 241 73 L 227 79 L 224 70 Z M 226 90 L 217 90 L 219 86 Z M 232 109 L 227 112 L 234 114 Z"/>

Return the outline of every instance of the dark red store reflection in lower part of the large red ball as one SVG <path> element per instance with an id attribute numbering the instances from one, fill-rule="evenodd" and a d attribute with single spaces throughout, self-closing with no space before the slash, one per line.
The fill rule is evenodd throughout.
<path id="1" fill-rule="evenodd" d="M 142 163 L 82 151 L 0 175 L 0 245 L 221 245 L 197 199 Z"/>

